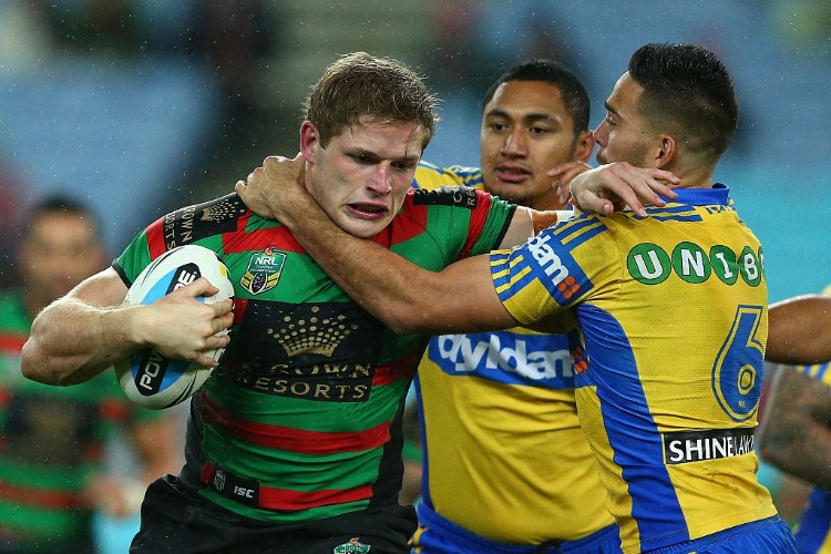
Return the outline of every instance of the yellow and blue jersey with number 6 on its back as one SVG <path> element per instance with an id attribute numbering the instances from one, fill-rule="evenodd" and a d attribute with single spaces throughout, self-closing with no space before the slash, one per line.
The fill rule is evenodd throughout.
<path id="1" fill-rule="evenodd" d="M 761 248 L 726 187 L 678 193 L 644 219 L 579 216 L 491 255 L 517 320 L 575 310 L 578 413 L 627 552 L 776 514 L 752 448 Z"/>

